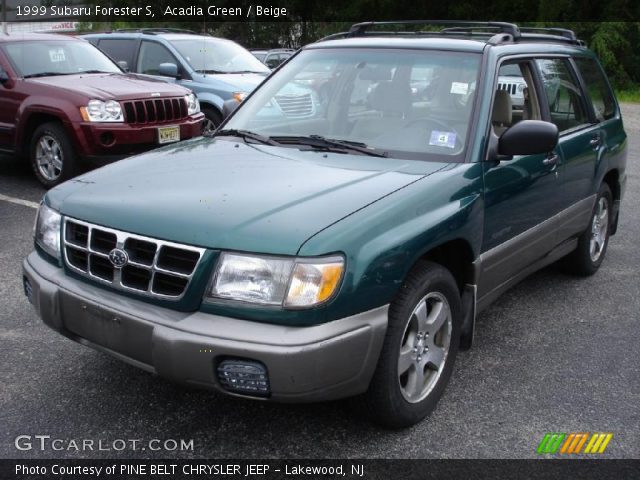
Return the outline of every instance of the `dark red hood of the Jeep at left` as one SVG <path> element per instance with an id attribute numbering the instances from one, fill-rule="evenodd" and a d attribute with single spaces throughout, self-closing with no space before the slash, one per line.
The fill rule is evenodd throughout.
<path id="1" fill-rule="evenodd" d="M 89 99 L 130 100 L 134 98 L 185 95 L 186 88 L 149 77 L 122 73 L 90 73 L 31 79 L 31 82 L 70 90 Z M 160 94 L 160 95 L 155 95 Z"/>

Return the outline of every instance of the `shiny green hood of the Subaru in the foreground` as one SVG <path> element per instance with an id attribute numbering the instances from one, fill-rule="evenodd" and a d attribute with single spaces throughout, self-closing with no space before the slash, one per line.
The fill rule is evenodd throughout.
<path id="1" fill-rule="evenodd" d="M 46 202 L 154 238 L 294 255 L 318 231 L 445 165 L 197 139 L 70 180 Z"/>

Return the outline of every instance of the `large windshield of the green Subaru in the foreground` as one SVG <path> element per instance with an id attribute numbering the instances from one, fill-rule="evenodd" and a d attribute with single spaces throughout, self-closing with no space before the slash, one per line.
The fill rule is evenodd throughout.
<path id="1" fill-rule="evenodd" d="M 276 141 L 322 136 L 389 157 L 458 161 L 479 59 L 429 50 L 306 50 L 263 83 L 225 129 Z"/>

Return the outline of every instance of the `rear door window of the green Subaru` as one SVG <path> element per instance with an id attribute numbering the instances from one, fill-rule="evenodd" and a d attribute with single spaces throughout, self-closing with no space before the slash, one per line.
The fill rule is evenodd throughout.
<path id="1" fill-rule="evenodd" d="M 584 107 L 584 96 L 571 74 L 565 59 L 545 58 L 537 60 L 544 91 L 549 104 L 551 121 L 564 132 L 589 123 Z"/>

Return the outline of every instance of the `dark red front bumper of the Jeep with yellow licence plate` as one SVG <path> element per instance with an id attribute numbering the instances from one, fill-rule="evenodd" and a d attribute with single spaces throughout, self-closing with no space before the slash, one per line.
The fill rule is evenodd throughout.
<path id="1" fill-rule="evenodd" d="M 81 157 L 124 157 L 161 146 L 158 128 L 179 127 L 180 140 L 197 137 L 202 134 L 203 120 L 204 114 L 199 112 L 169 124 L 79 122 L 71 124 L 71 128 Z"/>

